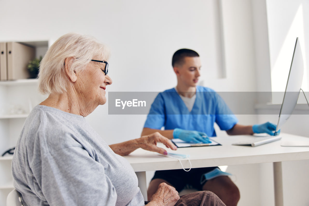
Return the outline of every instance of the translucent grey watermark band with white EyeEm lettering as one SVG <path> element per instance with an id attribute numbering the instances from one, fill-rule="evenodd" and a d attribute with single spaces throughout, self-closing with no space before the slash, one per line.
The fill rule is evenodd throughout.
<path id="1" fill-rule="evenodd" d="M 285 101 L 293 99 L 292 96 L 299 95 L 295 92 L 196 92 L 196 102 L 193 105 L 194 115 L 279 115 L 281 103 L 284 94 L 286 95 Z M 309 92 L 305 92 L 306 96 L 309 96 Z M 175 110 L 165 110 L 166 115 L 187 115 L 189 111 L 185 106 L 182 99 L 179 97 L 176 91 L 163 92 L 160 94 L 157 101 L 154 102 L 159 92 L 108 92 L 108 114 L 109 115 L 147 115 L 150 111 L 151 105 L 154 110 L 151 111 L 153 115 L 161 115 L 161 111 L 158 108 L 162 108 L 163 101 L 160 99 L 167 99 L 169 104 L 175 107 Z M 216 96 L 214 100 L 213 97 Z M 172 97 L 173 101 L 168 98 Z M 301 99 L 303 98 L 303 99 Z M 171 99 L 171 98 L 170 98 Z M 142 100 L 142 101 L 141 101 Z M 298 103 L 304 100 L 301 105 L 297 105 L 293 114 L 296 115 L 309 115 L 308 105 L 301 94 L 299 95 Z M 271 102 L 275 105 L 259 106 L 259 102 Z M 217 110 L 208 109 L 214 108 L 208 105 L 214 104 L 220 108 L 225 104 L 230 109 Z M 265 104 L 266 105 L 266 104 Z M 282 111 L 283 114 L 285 111 Z M 192 112 L 191 112 L 192 113 Z M 282 114 L 282 113 L 281 113 Z M 218 116 L 220 117 L 220 116 Z M 202 123 L 201 123 L 202 124 Z"/>

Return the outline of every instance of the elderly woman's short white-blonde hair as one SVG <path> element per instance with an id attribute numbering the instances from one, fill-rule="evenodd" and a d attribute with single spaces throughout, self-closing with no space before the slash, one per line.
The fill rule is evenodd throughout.
<path id="1" fill-rule="evenodd" d="M 110 51 L 92 36 L 68 33 L 61 36 L 48 49 L 40 63 L 39 91 L 46 95 L 66 92 L 69 80 L 65 70 L 65 60 L 74 57 L 71 71 L 82 71 L 91 59 L 108 61 Z"/>

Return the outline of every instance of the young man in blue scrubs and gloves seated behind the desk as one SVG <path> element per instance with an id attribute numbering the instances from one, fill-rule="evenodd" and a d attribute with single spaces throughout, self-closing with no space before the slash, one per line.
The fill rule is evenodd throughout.
<path id="1" fill-rule="evenodd" d="M 229 135 L 263 132 L 274 135 L 276 125 L 269 122 L 253 126 L 237 124 L 235 115 L 214 90 L 197 86 L 201 70 L 197 52 L 190 49 L 176 51 L 172 66 L 177 76 L 177 86 L 156 97 L 142 135 L 159 132 L 169 139 L 208 143 L 210 140 L 207 137 L 216 136 L 215 122 Z M 161 130 L 162 127 L 164 130 Z M 217 167 L 193 168 L 189 172 L 182 169 L 156 171 L 148 188 L 148 197 L 155 193 L 162 182 L 175 187 L 179 192 L 188 184 L 197 190 L 214 192 L 227 206 L 237 205 L 239 190 L 228 176 L 221 174 L 207 179 L 207 175 L 204 175 L 216 172 L 220 173 Z"/>

